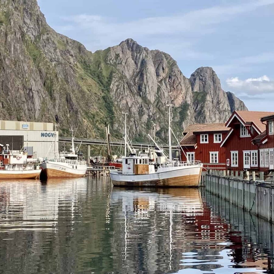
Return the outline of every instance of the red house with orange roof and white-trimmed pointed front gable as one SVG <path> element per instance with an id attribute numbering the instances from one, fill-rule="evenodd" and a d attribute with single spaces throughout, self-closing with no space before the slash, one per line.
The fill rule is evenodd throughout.
<path id="1" fill-rule="evenodd" d="M 230 160 L 230 170 L 258 170 L 258 145 L 252 142 L 265 131 L 261 117 L 273 115 L 264 111 L 234 111 L 226 123 L 230 128 L 220 147 Z"/>

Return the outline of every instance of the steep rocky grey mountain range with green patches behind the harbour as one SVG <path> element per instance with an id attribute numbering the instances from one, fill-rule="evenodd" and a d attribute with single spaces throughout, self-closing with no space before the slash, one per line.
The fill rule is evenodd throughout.
<path id="1" fill-rule="evenodd" d="M 131 137 L 142 140 L 156 121 L 167 130 L 166 104 L 174 104 L 174 132 L 188 123 L 223 122 L 244 103 L 222 90 L 212 68 L 188 79 L 167 53 L 132 39 L 94 53 L 47 25 L 36 0 L 0 0 L 0 118 L 53 121 L 61 135 L 104 136 L 109 122 L 120 138 L 122 111 Z"/>

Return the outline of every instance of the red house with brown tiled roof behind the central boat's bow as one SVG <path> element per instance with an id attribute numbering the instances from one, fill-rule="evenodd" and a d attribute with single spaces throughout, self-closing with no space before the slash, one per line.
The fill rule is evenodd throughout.
<path id="1" fill-rule="evenodd" d="M 182 161 L 199 160 L 205 168 L 225 169 L 225 148 L 220 147 L 230 129 L 224 123 L 189 125 L 183 132 Z"/>

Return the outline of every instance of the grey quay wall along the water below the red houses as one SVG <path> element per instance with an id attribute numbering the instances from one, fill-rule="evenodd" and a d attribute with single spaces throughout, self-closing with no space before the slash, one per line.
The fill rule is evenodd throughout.
<path id="1" fill-rule="evenodd" d="M 274 222 L 272 183 L 205 174 L 204 184 L 210 193 L 269 222 Z"/>

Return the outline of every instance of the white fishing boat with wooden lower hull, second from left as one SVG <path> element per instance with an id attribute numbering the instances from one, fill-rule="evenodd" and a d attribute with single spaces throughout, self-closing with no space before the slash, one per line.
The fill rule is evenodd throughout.
<path id="1" fill-rule="evenodd" d="M 56 128 L 55 128 L 56 131 Z M 55 134 L 55 150 L 54 158 L 47 159 L 41 163 L 41 176 L 46 178 L 58 178 L 58 177 L 83 177 L 86 174 L 86 161 L 83 159 L 83 155 L 78 155 L 79 147 L 77 150 L 74 148 L 74 132 L 75 129 L 70 129 L 72 134 L 72 141 L 70 146 L 70 152 L 58 153 L 57 140 Z"/>

